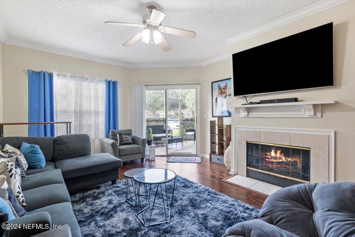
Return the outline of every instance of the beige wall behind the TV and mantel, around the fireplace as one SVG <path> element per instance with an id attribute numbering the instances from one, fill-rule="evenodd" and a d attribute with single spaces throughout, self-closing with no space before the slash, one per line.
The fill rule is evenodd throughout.
<path id="1" fill-rule="evenodd" d="M 354 9 L 355 1 L 349 1 L 232 45 L 232 52 L 236 53 L 334 22 L 334 87 L 259 95 L 253 101 L 298 97 L 305 101 L 336 100 L 337 103 L 322 105 L 322 118 L 241 118 L 239 110 L 235 110 L 232 126 L 335 130 L 335 181 L 355 181 Z M 237 83 L 237 75 L 234 77 Z M 239 104 L 243 104 L 241 99 L 232 99 L 232 105 Z"/>

